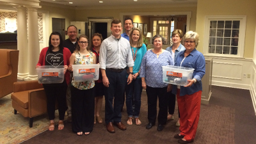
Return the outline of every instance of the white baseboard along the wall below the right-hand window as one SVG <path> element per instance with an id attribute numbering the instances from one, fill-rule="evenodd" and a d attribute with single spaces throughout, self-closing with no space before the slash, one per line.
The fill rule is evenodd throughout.
<path id="1" fill-rule="evenodd" d="M 214 86 L 225 86 L 229 88 L 239 88 L 239 89 L 245 89 L 250 90 L 251 86 L 249 84 L 237 84 L 237 83 L 227 83 L 223 81 L 212 81 L 212 85 Z"/>

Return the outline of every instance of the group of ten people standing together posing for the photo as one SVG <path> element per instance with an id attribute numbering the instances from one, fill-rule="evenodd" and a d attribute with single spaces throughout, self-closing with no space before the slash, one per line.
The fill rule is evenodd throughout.
<path id="1" fill-rule="evenodd" d="M 126 130 L 126 126 L 121 122 L 124 93 L 127 124 L 132 125 L 135 122 L 136 125 L 141 125 L 141 92 L 145 89 L 148 98 L 146 129 L 151 129 L 156 124 L 157 98 L 157 131 L 163 131 L 166 121 L 173 119 L 177 97 L 179 120 L 176 125 L 180 125 L 180 133 L 175 134 L 174 138 L 179 139 L 179 143 L 190 143 L 195 139 L 200 114 L 201 79 L 205 74 L 204 56 L 196 51 L 198 34 L 188 31 L 183 36 L 181 30 L 175 29 L 172 32 L 173 45 L 166 50 L 163 49 L 163 36 L 156 35 L 152 38 L 154 49 L 147 51 L 141 29 L 133 28 L 132 23 L 132 19 L 125 19 L 125 33 L 121 35 L 122 22 L 115 19 L 111 22 L 111 36 L 103 40 L 102 35 L 95 33 L 91 42 L 86 35 L 77 38 L 76 26 L 68 27 L 69 38 L 64 41 L 60 33 L 51 34 L 49 47 L 40 52 L 36 67 L 64 67 L 65 80 L 63 83 L 43 84 L 50 119 L 49 131 L 54 130 L 57 100 L 60 115 L 58 129 L 64 128 L 63 120 L 67 110 L 68 122 L 72 122 L 72 131 L 78 136 L 90 134 L 93 124 L 102 123 L 100 109 L 103 95 L 106 102 L 104 120 L 107 131 L 114 133 L 114 125 L 123 131 Z M 184 46 L 180 44 L 182 39 Z M 52 59 L 56 58 L 58 60 L 53 63 Z M 99 80 L 74 81 L 72 65 L 90 64 L 100 65 Z M 189 79 L 186 86 L 164 83 L 162 67 L 166 65 L 194 68 L 193 79 Z"/>

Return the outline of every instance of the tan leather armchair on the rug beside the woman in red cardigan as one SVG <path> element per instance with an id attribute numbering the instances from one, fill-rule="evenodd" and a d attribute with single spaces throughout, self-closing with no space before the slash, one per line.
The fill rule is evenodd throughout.
<path id="1" fill-rule="evenodd" d="M 13 84 L 11 95 L 14 114 L 29 117 L 29 127 L 33 127 L 33 118 L 47 113 L 47 98 L 44 87 L 35 81 L 21 81 Z"/>

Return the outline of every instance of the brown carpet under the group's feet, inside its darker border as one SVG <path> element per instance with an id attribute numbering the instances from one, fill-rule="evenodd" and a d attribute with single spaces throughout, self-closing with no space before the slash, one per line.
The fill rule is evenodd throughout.
<path id="1" fill-rule="evenodd" d="M 218 89 L 218 86 L 216 87 Z M 71 124 L 65 123 L 63 131 L 45 131 L 37 136 L 24 141 L 23 143 L 177 143 L 173 138 L 179 132 L 179 127 L 175 127 L 178 119 L 177 110 L 175 120 L 166 124 L 163 131 L 158 132 L 157 126 L 152 129 L 145 129 L 147 125 L 147 95 L 141 96 L 141 125 L 127 125 L 127 113 L 124 107 L 122 122 L 127 125 L 126 131 L 121 131 L 116 127 L 115 134 L 106 131 L 105 124 L 96 124 L 93 132 L 89 136 L 77 136 L 72 132 Z M 103 102 L 104 103 L 104 102 Z M 104 104 L 103 104 L 104 105 Z M 102 108 L 102 118 L 104 118 L 104 106 Z M 235 108 L 210 104 L 201 105 L 200 121 L 198 124 L 195 144 L 220 144 L 235 142 Z M 23 144 L 22 143 L 22 144 Z"/>

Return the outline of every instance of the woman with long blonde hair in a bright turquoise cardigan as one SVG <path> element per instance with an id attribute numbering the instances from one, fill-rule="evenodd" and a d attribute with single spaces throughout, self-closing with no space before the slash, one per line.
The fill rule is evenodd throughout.
<path id="1" fill-rule="evenodd" d="M 132 125 L 132 116 L 135 118 L 136 125 L 140 125 L 140 106 L 141 106 L 141 77 L 140 77 L 140 65 L 144 54 L 147 52 L 147 47 L 143 44 L 142 31 L 138 28 L 134 28 L 130 35 L 130 44 L 132 51 L 132 58 L 134 66 L 132 69 L 132 83 L 126 86 L 126 108 L 129 119 L 127 120 L 128 125 Z M 134 95 L 134 111 L 132 111 L 132 95 Z"/>

